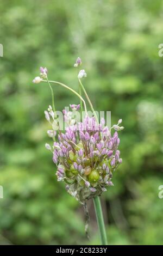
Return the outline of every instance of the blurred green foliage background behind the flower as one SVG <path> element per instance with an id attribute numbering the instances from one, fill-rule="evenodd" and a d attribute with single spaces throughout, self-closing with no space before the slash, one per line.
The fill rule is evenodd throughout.
<path id="1" fill-rule="evenodd" d="M 51 95 L 32 83 L 47 66 L 77 89 L 78 56 L 95 108 L 125 126 L 123 164 L 102 196 L 109 244 L 162 244 L 162 16 L 161 0 L 0 1 L 1 244 L 99 244 L 92 202 L 87 241 L 82 206 L 57 182 L 45 149 Z M 55 99 L 58 110 L 79 103 L 60 87 Z"/>

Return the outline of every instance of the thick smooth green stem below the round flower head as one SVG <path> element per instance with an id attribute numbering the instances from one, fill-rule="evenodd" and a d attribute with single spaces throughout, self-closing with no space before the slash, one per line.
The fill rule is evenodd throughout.
<path id="1" fill-rule="evenodd" d="M 99 233 L 100 233 L 100 237 L 101 237 L 101 245 L 108 245 L 105 224 L 104 224 L 104 218 L 103 218 L 103 212 L 102 212 L 101 202 L 100 202 L 99 197 L 94 197 L 93 203 L 95 206 L 96 218 L 97 218 Z"/>

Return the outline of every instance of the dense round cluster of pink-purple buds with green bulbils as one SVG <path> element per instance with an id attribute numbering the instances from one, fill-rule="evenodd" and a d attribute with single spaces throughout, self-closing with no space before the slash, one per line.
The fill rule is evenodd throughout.
<path id="1" fill-rule="evenodd" d="M 117 131 L 111 136 L 104 119 L 97 124 L 95 117 L 87 115 L 60 133 L 52 148 L 48 144 L 46 148 L 53 152 L 58 181 L 64 181 L 67 192 L 83 203 L 113 186 L 112 173 L 122 163 L 119 144 Z"/>

